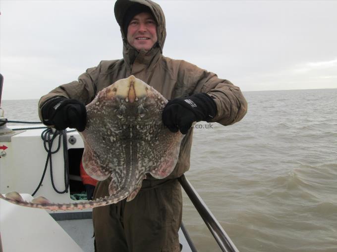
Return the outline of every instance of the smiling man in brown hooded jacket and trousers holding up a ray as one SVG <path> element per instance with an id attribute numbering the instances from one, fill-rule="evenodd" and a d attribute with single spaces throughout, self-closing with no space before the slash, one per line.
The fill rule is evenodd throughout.
<path id="1" fill-rule="evenodd" d="M 165 179 L 147 175 L 135 199 L 94 209 L 93 223 L 95 251 L 178 252 L 182 198 L 176 178 L 189 169 L 191 125 L 196 121 L 231 125 L 243 118 L 247 103 L 240 89 L 229 81 L 183 60 L 163 56 L 165 16 L 157 3 L 117 0 L 114 14 L 122 34 L 123 59 L 101 61 L 78 81 L 43 96 L 40 117 L 57 129 L 69 126 L 84 130 L 84 104 L 104 87 L 130 75 L 169 99 L 163 122 L 171 131 L 185 134 L 173 172 Z M 109 195 L 110 180 L 98 182 L 94 198 Z"/>

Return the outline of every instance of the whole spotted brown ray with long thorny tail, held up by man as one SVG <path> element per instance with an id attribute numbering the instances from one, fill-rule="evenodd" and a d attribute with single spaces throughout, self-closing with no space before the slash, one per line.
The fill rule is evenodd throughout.
<path id="1" fill-rule="evenodd" d="M 162 124 L 168 101 L 153 87 L 130 76 L 98 93 L 87 108 L 87 126 L 80 132 L 84 142 L 83 167 L 93 178 L 109 176 L 110 196 L 80 203 L 56 204 L 44 197 L 24 201 L 16 192 L 0 198 L 16 205 L 74 210 L 106 206 L 127 198 L 132 200 L 146 173 L 167 177 L 178 160 L 183 135 Z"/>

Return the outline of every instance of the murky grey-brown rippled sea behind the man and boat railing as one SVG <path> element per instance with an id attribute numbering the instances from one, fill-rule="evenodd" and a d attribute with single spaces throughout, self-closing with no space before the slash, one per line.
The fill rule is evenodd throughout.
<path id="1" fill-rule="evenodd" d="M 337 89 L 243 92 L 230 126 L 194 126 L 185 173 L 240 252 L 337 252 Z M 3 100 L 11 121 L 39 121 L 38 100 Z M 183 194 L 201 252 L 221 251 Z"/>

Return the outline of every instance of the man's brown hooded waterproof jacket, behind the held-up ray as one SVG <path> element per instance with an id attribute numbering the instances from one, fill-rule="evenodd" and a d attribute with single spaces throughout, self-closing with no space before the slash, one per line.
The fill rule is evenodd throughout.
<path id="1" fill-rule="evenodd" d="M 122 31 L 125 10 L 132 2 L 147 5 L 158 23 L 158 43 L 148 52 L 137 51 L 131 47 Z M 208 93 L 215 98 L 218 108 L 217 115 L 210 122 L 226 126 L 243 118 L 247 112 L 247 102 L 239 87 L 227 80 L 219 79 L 216 74 L 198 68 L 191 63 L 162 55 L 166 38 L 165 16 L 157 3 L 151 0 L 118 0 L 114 13 L 121 27 L 123 59 L 103 60 L 97 67 L 87 69 L 84 74 L 80 75 L 78 81 L 60 85 L 41 97 L 39 101 L 40 119 L 42 106 L 55 96 L 77 99 L 88 104 L 100 90 L 130 75 L 153 86 L 167 99 L 199 92 Z M 193 129 L 191 128 L 181 143 L 178 163 L 169 178 L 178 177 L 189 169 L 192 134 Z"/>

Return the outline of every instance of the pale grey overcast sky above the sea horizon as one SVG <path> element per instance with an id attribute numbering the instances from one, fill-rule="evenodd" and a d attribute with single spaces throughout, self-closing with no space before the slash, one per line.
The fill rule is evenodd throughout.
<path id="1" fill-rule="evenodd" d="M 163 54 L 243 91 L 337 88 L 337 1 L 157 0 Z M 122 57 L 114 1 L 0 0 L 2 99 L 38 99 Z"/>

